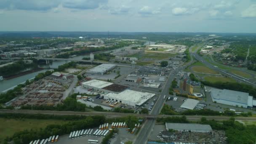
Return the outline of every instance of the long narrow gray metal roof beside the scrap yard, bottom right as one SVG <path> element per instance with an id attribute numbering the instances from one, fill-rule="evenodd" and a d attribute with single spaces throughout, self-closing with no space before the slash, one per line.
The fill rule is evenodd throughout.
<path id="1" fill-rule="evenodd" d="M 196 131 L 212 131 L 210 125 L 201 125 L 197 123 L 166 123 L 168 129 L 174 130 L 196 130 Z"/>

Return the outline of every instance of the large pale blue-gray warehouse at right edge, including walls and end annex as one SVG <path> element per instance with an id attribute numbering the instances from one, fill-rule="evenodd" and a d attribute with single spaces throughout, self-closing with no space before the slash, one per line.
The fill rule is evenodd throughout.
<path id="1" fill-rule="evenodd" d="M 212 101 L 219 104 L 245 108 L 256 106 L 256 100 L 253 100 L 253 96 L 249 96 L 249 93 L 216 88 L 211 88 L 210 93 Z"/>

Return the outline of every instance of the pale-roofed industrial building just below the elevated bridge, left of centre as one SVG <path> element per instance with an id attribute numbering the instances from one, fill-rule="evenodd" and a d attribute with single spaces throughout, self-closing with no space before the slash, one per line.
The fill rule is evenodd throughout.
<path id="1" fill-rule="evenodd" d="M 87 73 L 104 75 L 107 71 L 110 71 L 115 67 L 116 67 L 115 64 L 101 64 L 97 67 L 93 67 L 92 69 L 88 70 Z"/>

